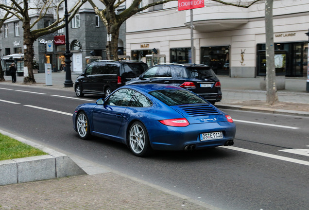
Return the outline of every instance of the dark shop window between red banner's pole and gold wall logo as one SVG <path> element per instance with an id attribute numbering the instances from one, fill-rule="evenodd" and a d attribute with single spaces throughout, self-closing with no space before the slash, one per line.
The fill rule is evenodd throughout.
<path id="1" fill-rule="evenodd" d="M 201 47 L 201 64 L 210 66 L 217 75 L 229 75 L 229 46 Z"/>

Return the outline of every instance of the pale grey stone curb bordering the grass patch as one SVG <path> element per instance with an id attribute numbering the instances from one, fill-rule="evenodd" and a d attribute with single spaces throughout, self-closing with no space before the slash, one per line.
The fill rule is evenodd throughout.
<path id="1" fill-rule="evenodd" d="M 6 131 L 0 133 L 26 143 L 49 155 L 22 157 L 0 161 L 0 186 L 74 175 L 86 175 L 70 157 Z"/>

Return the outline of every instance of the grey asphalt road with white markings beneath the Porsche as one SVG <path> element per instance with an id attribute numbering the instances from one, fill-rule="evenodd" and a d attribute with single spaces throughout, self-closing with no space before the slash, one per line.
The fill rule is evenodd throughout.
<path id="1" fill-rule="evenodd" d="M 296 150 L 309 149 L 309 118 L 224 110 L 237 126 L 234 146 L 140 158 L 120 143 L 78 138 L 71 114 L 98 98 L 0 84 L 0 128 L 223 210 L 309 209 L 308 152 Z"/>

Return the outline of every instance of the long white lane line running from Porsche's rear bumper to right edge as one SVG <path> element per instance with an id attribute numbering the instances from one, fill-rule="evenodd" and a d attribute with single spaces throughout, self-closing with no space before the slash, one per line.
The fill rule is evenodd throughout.
<path id="1" fill-rule="evenodd" d="M 254 154 L 254 155 L 258 155 L 258 156 L 270 157 L 270 158 L 274 158 L 274 159 L 279 159 L 279 160 L 284 160 L 284 161 L 288 161 L 288 162 L 293 162 L 293 163 L 298 163 L 298 164 L 309 166 L 309 162 L 305 161 L 305 160 L 299 160 L 299 159 L 294 159 L 294 158 L 290 158 L 290 157 L 277 156 L 277 155 L 272 155 L 272 154 L 269 154 L 269 153 L 257 152 L 257 151 L 254 151 L 254 150 L 248 150 L 248 149 L 243 149 L 243 148 L 234 147 L 234 146 L 220 146 L 220 147 L 225 148 L 225 149 L 236 150 L 236 151 L 240 151 L 240 152 L 244 152 L 244 153 L 250 153 L 250 154 Z"/>

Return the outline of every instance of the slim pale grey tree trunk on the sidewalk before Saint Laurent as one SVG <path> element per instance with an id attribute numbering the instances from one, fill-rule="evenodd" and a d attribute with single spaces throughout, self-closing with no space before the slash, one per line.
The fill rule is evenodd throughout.
<path id="1" fill-rule="evenodd" d="M 273 26 L 273 0 L 265 2 L 265 30 L 266 30 L 266 102 L 273 105 L 278 102 L 275 84 L 275 47 Z"/>

